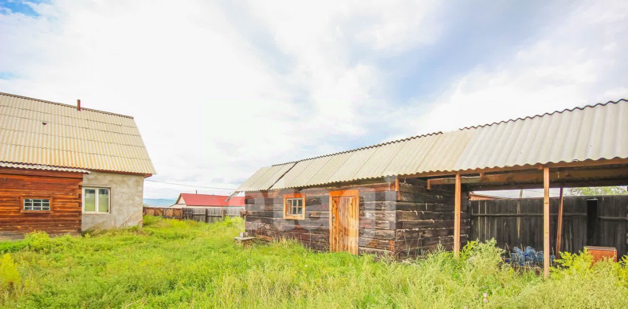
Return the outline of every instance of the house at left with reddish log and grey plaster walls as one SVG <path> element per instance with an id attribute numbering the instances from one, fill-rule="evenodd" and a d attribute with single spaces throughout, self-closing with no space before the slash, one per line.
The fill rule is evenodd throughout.
<path id="1" fill-rule="evenodd" d="M 141 224 L 153 174 L 133 117 L 0 93 L 0 239 Z"/>

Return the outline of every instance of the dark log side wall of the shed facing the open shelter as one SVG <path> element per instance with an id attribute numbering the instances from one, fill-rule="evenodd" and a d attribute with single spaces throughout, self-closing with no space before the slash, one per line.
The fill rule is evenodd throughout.
<path id="1" fill-rule="evenodd" d="M 426 182 L 406 179 L 399 183 L 396 202 L 395 254 L 398 258 L 413 258 L 433 251 L 441 244 L 453 249 L 453 197 L 452 186 L 428 190 Z M 461 248 L 470 233 L 468 194 L 462 192 L 460 217 Z"/>

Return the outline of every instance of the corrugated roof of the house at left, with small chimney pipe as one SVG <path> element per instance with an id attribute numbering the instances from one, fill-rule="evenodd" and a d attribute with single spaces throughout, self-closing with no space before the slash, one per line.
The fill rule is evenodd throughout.
<path id="1" fill-rule="evenodd" d="M 0 160 L 155 174 L 133 117 L 0 93 Z"/>

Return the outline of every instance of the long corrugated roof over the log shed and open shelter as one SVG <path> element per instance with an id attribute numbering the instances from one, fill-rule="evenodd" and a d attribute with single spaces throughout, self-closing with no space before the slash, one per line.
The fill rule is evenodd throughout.
<path id="1" fill-rule="evenodd" d="M 598 103 L 273 165 L 270 189 L 423 172 L 628 158 L 628 101 Z M 295 165 L 296 163 L 296 165 Z M 294 167 L 293 167 L 294 166 Z M 264 167 L 254 174 L 273 167 Z M 267 190 L 245 182 L 237 191 Z M 246 186 L 245 186 L 246 184 Z"/>

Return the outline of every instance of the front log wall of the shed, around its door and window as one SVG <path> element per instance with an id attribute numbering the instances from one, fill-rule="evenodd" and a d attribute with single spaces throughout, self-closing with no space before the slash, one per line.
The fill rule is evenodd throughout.
<path id="1" fill-rule="evenodd" d="M 257 238 L 296 239 L 309 248 L 329 249 L 329 192 L 359 191 L 359 253 L 386 254 L 394 251 L 394 182 L 353 184 L 342 187 L 308 188 L 305 194 L 305 219 L 283 219 L 283 196 L 294 190 L 247 192 L 246 231 Z"/>

